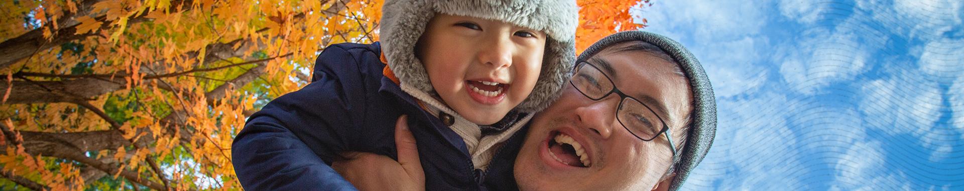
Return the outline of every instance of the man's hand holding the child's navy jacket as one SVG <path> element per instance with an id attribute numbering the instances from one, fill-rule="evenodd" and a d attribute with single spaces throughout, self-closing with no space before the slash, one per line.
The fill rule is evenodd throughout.
<path id="1" fill-rule="evenodd" d="M 425 172 L 406 116 L 395 123 L 395 148 L 398 161 L 370 152 L 345 152 L 341 155 L 346 159 L 335 161 L 332 168 L 359 190 L 425 190 Z"/>

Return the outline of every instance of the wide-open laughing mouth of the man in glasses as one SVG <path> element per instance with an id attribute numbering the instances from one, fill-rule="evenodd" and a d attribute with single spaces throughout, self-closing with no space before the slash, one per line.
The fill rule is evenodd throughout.
<path id="1" fill-rule="evenodd" d="M 569 166 L 586 168 L 592 165 L 582 145 L 573 137 L 559 132 L 555 132 L 555 137 L 549 140 L 549 155 Z"/>

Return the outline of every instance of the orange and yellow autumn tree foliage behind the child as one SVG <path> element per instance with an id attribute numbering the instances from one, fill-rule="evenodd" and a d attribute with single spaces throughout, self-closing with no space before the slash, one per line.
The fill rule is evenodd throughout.
<path id="1" fill-rule="evenodd" d="M 649 1 L 580 0 L 577 49 Z M 328 44 L 378 40 L 381 0 L 0 1 L 0 190 L 240 189 L 247 116 Z M 641 22 L 641 23 L 638 23 Z"/>

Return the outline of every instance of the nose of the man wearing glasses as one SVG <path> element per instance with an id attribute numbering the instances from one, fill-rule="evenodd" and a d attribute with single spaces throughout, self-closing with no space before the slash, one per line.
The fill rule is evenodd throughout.
<path id="1" fill-rule="evenodd" d="M 586 98 L 590 100 L 589 98 Z M 616 107 L 619 106 L 619 96 L 606 96 L 603 99 L 588 102 L 588 105 L 576 108 L 576 115 L 581 126 L 593 130 L 603 139 L 612 135 L 613 127 L 619 125 L 616 121 Z"/>

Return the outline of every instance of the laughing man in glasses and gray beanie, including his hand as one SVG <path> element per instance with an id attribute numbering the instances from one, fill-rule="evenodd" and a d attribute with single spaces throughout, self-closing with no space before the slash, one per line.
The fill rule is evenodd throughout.
<path id="1" fill-rule="evenodd" d="M 503 146 L 518 150 L 516 181 L 489 188 L 677 190 L 710 149 L 715 126 L 709 78 L 682 45 L 648 32 L 617 33 L 579 56 L 559 99 L 520 133 L 524 143 Z M 396 133 L 398 162 L 353 153 L 335 169 L 361 188 L 418 184 L 423 177 L 407 132 Z"/>

